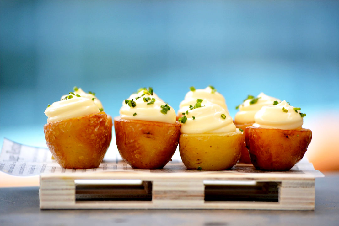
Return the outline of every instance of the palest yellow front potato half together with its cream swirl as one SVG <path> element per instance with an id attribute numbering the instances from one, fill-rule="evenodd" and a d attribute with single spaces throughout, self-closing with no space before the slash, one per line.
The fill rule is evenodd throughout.
<path id="1" fill-rule="evenodd" d="M 179 122 L 180 156 L 187 169 L 224 170 L 237 163 L 245 136 L 223 107 L 197 99 Z"/>

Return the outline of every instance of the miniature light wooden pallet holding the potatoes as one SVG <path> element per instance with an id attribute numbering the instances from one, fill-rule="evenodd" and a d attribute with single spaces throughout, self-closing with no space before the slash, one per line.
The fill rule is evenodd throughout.
<path id="1" fill-rule="evenodd" d="M 226 171 L 186 170 L 180 162 L 161 170 L 119 164 L 124 170 L 42 174 L 40 208 L 314 210 L 315 178 L 323 176 L 308 162 L 286 172 L 246 164 Z"/>

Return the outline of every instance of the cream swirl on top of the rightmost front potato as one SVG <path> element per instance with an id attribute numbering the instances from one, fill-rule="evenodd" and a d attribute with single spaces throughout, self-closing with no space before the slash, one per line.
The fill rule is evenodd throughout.
<path id="1" fill-rule="evenodd" d="M 263 106 L 255 114 L 254 120 L 253 126 L 276 129 L 299 129 L 304 122 L 300 111 L 286 101 L 277 105 Z"/>

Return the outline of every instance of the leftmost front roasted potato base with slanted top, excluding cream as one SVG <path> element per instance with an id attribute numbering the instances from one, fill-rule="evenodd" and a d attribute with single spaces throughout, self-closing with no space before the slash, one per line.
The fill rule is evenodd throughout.
<path id="1" fill-rule="evenodd" d="M 96 168 L 108 148 L 105 112 L 47 123 L 44 132 L 49 150 L 63 168 Z"/>

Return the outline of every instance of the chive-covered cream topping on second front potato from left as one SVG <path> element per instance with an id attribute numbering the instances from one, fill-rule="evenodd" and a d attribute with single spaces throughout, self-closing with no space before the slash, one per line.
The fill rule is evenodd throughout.
<path id="1" fill-rule="evenodd" d="M 140 94 L 140 95 L 139 95 Z M 165 122 L 165 123 L 175 123 L 176 122 L 176 115 L 174 109 L 167 105 L 170 109 L 167 110 L 166 114 L 163 114 L 161 110 L 163 110 L 163 107 L 166 103 L 163 102 L 157 95 L 153 93 L 151 94 L 145 94 L 142 97 L 140 97 L 142 94 L 144 94 L 143 91 L 140 91 L 137 94 L 131 95 L 130 99 L 135 102 L 135 106 L 129 106 L 128 104 L 123 102 L 123 106 L 120 108 L 120 117 L 122 119 L 129 119 L 129 120 L 143 120 L 143 121 L 152 121 L 152 122 Z M 140 97 L 136 99 L 136 97 Z M 149 100 L 147 102 L 144 101 L 145 99 Z M 152 101 L 152 98 L 155 99 L 153 104 L 149 104 Z M 147 104 L 148 103 L 148 104 Z M 164 112 L 164 111 L 163 111 Z"/>

